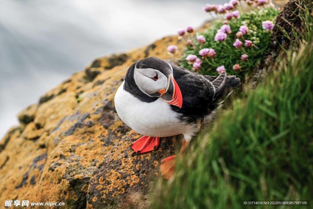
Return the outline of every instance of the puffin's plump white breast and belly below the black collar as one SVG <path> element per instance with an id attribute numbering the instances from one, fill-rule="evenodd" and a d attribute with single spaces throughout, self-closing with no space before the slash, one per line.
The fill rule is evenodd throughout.
<path id="1" fill-rule="evenodd" d="M 124 82 L 118 88 L 114 102 L 118 116 L 126 125 L 145 136 L 167 137 L 182 133 L 186 140 L 191 139 L 196 131 L 195 125 L 179 120 L 179 113 L 172 111 L 170 104 L 161 98 L 151 103 L 141 102 L 125 91 L 123 86 Z"/>

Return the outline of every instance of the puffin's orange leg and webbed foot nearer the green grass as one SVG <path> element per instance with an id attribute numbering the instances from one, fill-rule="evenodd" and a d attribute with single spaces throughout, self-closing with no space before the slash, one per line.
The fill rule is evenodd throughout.
<path id="1" fill-rule="evenodd" d="M 182 156 L 182 153 L 185 149 L 188 149 L 189 142 L 182 140 L 182 149 L 180 149 L 179 156 Z M 169 156 L 161 161 L 161 174 L 163 175 L 163 179 L 172 179 L 174 178 L 174 170 L 175 170 L 175 159 L 176 155 Z"/>

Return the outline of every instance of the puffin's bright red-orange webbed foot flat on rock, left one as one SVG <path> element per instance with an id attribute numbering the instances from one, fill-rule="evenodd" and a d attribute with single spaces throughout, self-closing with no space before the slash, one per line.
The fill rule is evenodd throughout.
<path id="1" fill-rule="evenodd" d="M 131 144 L 131 149 L 133 149 L 138 154 L 152 151 L 158 148 L 159 145 L 160 137 L 143 136 Z"/>

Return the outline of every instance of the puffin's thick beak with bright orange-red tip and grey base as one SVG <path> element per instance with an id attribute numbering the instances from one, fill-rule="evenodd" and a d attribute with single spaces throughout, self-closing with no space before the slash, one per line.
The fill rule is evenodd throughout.
<path id="1" fill-rule="evenodd" d="M 161 96 L 161 99 L 164 102 L 182 108 L 182 92 L 172 75 L 168 77 L 167 89 Z"/>

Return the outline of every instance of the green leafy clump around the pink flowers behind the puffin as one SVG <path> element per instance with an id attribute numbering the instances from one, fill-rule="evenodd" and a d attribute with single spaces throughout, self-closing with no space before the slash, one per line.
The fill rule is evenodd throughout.
<path id="1" fill-rule="evenodd" d="M 211 59 L 201 59 L 202 65 L 199 73 L 217 76 L 218 72 L 216 71 L 216 68 L 224 65 L 228 75 L 236 75 L 243 80 L 244 76 L 247 73 L 251 73 L 254 70 L 255 65 L 259 64 L 269 51 L 268 45 L 270 42 L 271 31 L 266 31 L 262 28 L 262 21 L 274 21 L 278 12 L 279 11 L 274 8 L 261 8 L 255 11 L 251 10 L 248 13 L 241 13 L 239 19 L 228 21 L 232 33 L 228 34 L 228 37 L 224 42 L 214 40 L 217 30 L 220 29 L 223 23 L 214 23 L 207 32 L 201 33 L 201 35 L 206 38 L 206 42 L 202 44 L 201 47 L 197 43 L 196 38 L 193 39 L 195 47 L 187 46 L 185 54 L 182 56 L 180 66 L 192 70 L 192 65 L 188 64 L 188 61 L 186 60 L 187 55 L 197 55 L 198 58 L 201 58 L 199 50 L 203 48 L 212 48 L 216 52 L 214 62 L 212 62 Z M 259 49 L 256 47 L 253 47 L 252 49 L 245 47 L 243 39 L 240 39 L 240 41 L 243 42 L 242 49 L 236 49 L 236 47 L 233 46 L 233 43 L 237 39 L 236 33 L 239 31 L 239 27 L 244 24 L 251 30 L 251 32 L 244 34 L 244 39 L 251 40 Z M 249 56 L 248 62 L 241 60 L 241 55 L 243 54 Z M 242 67 L 240 71 L 233 71 L 233 65 L 235 64 L 239 64 Z"/>

